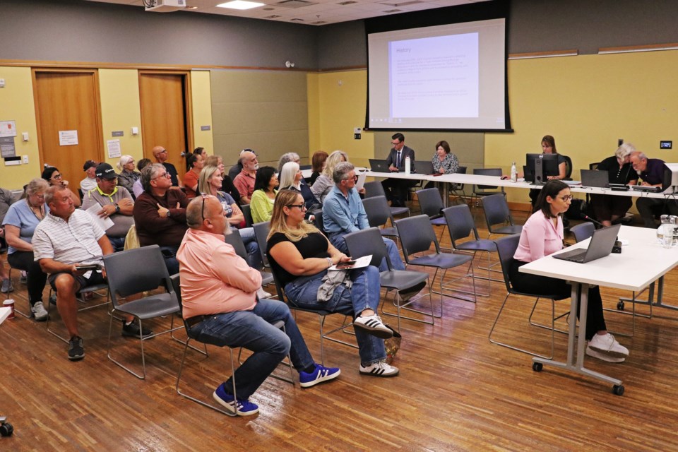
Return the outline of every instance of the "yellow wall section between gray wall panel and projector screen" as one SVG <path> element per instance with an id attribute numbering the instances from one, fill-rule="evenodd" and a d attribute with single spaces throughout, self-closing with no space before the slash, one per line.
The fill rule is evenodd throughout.
<path id="1" fill-rule="evenodd" d="M 357 166 L 367 165 L 374 157 L 374 133 L 362 133 L 362 139 L 353 139 L 353 129 L 365 124 L 367 71 L 321 73 L 317 77 L 317 95 L 314 83 L 309 83 L 309 105 L 315 101 L 317 131 L 309 117 L 309 143 L 314 150 L 343 150 Z M 312 88 L 312 89 L 311 89 Z M 311 107 L 309 106 L 309 112 Z"/>

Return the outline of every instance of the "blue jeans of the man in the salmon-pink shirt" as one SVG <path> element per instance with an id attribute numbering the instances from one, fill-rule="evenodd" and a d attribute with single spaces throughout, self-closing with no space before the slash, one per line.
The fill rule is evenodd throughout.
<path id="1" fill-rule="evenodd" d="M 285 322 L 284 333 L 271 325 L 279 320 Z M 260 299 L 251 311 L 215 314 L 194 325 L 190 333 L 202 343 L 254 352 L 235 371 L 235 390 L 242 400 L 254 394 L 288 352 L 297 370 L 314 364 L 290 308 L 275 299 Z M 232 385 L 231 379 L 224 383 L 227 392 Z"/>

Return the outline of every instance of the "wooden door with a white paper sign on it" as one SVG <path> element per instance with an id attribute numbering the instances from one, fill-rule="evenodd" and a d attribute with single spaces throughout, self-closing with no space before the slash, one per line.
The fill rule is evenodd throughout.
<path id="1" fill-rule="evenodd" d="M 85 160 L 104 157 L 97 71 L 33 69 L 33 90 L 41 167 L 58 167 L 77 192 Z M 60 131 L 77 131 L 78 143 L 61 145 Z"/>

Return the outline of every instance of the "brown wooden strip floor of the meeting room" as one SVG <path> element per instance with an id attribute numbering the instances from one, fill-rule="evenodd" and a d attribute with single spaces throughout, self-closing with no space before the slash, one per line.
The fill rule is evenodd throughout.
<path id="1" fill-rule="evenodd" d="M 673 272 L 665 302 L 678 304 L 677 285 Z M 612 309 L 619 295 L 627 295 L 606 289 L 602 294 Z M 168 336 L 148 341 L 148 379 L 141 381 L 107 359 L 104 308 L 79 316 L 87 353 L 81 362 L 66 359 L 66 344 L 49 335 L 44 323 L 17 317 L 0 326 L 0 415 L 15 428 L 14 436 L 0 438 L 0 451 L 678 449 L 678 315 L 655 309 L 653 319 L 636 319 L 633 338 L 618 336 L 631 352 L 623 364 L 586 360 L 590 369 L 623 379 L 626 393 L 619 397 L 607 383 L 551 368 L 536 373 L 528 355 L 489 343 L 504 295 L 503 283 L 492 283 L 492 295 L 477 304 L 443 299 L 444 316 L 434 326 L 403 321 L 396 378 L 360 376 L 355 349 L 326 343 L 326 364 L 342 370 L 337 380 L 301 389 L 268 379 L 251 398 L 259 414 L 239 418 L 177 395 L 183 346 Z M 25 286 L 18 280 L 13 298 L 25 307 Z M 532 302 L 513 300 L 499 338 L 546 352 L 549 333 L 527 323 Z M 546 307 L 537 314 L 542 320 Z M 569 303 L 559 309 L 566 311 Z M 648 307 L 638 311 L 648 313 Z M 631 316 L 606 318 L 610 329 L 631 332 Z M 299 314 L 298 323 L 319 359 L 316 316 Z M 153 328 L 168 324 L 162 319 Z M 56 325 L 64 331 L 62 323 Z M 116 350 L 138 365 L 138 342 L 114 328 Z M 566 335 L 557 334 L 556 358 L 564 360 L 565 351 Z M 215 347 L 208 358 L 190 353 L 186 381 L 194 393 L 210 399 L 227 377 L 226 358 Z"/>

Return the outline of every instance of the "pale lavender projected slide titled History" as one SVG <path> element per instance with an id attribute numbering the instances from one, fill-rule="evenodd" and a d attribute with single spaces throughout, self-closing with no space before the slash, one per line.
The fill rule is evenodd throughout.
<path id="1" fill-rule="evenodd" d="M 478 33 L 388 43 L 391 117 L 478 116 Z"/>

